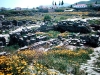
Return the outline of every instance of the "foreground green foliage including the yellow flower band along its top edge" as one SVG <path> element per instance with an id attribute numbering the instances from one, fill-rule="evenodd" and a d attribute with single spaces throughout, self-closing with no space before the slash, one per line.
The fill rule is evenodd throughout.
<path id="1" fill-rule="evenodd" d="M 80 64 L 89 59 L 89 53 L 88 50 L 79 50 L 78 52 L 51 50 L 47 52 L 47 55 L 44 55 L 43 60 L 38 60 L 38 62 L 47 68 L 54 68 L 64 74 L 67 73 L 68 68 L 72 67 L 73 74 L 78 75 Z"/>

